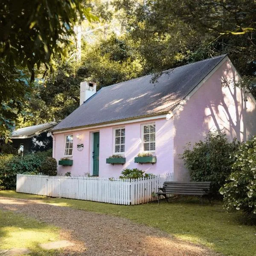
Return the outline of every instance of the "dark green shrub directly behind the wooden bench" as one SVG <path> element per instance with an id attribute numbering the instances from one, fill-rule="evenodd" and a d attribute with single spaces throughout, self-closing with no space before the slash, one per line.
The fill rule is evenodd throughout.
<path id="1" fill-rule="evenodd" d="M 205 141 L 195 143 L 190 149 L 189 143 L 181 154 L 192 181 L 211 181 L 211 192 L 219 197 L 219 189 L 232 172 L 235 161 L 233 153 L 239 143 L 236 139 L 230 142 L 222 132 L 209 132 Z M 232 155 L 230 157 L 230 154 Z"/>

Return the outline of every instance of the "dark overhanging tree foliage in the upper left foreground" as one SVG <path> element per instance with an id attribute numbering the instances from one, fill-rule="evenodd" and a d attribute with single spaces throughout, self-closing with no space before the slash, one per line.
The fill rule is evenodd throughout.
<path id="1" fill-rule="evenodd" d="M 80 0 L 0 2 L 0 136 L 8 137 L 23 113 L 35 69 L 44 65 L 45 75 L 54 66 L 53 55 L 66 56 L 73 28 L 84 18 L 96 20 Z"/>

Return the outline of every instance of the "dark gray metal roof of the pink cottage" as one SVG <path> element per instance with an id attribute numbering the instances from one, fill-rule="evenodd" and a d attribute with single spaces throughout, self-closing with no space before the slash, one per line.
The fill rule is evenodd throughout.
<path id="1" fill-rule="evenodd" d="M 52 131 L 166 113 L 183 100 L 225 58 L 221 55 L 172 70 L 103 87 Z"/>

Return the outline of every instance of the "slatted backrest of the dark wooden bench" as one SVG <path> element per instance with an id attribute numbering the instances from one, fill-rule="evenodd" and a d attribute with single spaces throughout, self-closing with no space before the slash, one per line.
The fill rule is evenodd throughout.
<path id="1" fill-rule="evenodd" d="M 166 192 L 173 192 L 177 194 L 208 194 L 210 191 L 211 182 L 176 182 L 165 181 L 163 183 L 163 189 Z"/>

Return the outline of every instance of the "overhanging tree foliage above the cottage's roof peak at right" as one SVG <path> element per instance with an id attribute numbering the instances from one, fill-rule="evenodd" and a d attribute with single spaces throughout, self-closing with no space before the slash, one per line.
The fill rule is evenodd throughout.
<path id="1" fill-rule="evenodd" d="M 114 4 L 123 10 L 121 18 L 148 72 L 228 53 L 244 76 L 244 86 L 255 88 L 255 1 L 116 0 Z"/>

